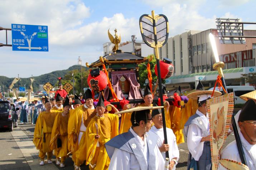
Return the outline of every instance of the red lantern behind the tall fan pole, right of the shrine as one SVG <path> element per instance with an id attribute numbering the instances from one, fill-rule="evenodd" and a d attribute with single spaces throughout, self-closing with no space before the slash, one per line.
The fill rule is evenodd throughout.
<path id="1" fill-rule="evenodd" d="M 172 65 L 172 61 L 168 58 L 164 58 L 164 61 L 160 60 L 160 72 L 161 72 L 161 79 L 168 78 L 172 76 L 174 67 Z M 157 67 L 155 65 L 155 74 L 158 76 Z"/>

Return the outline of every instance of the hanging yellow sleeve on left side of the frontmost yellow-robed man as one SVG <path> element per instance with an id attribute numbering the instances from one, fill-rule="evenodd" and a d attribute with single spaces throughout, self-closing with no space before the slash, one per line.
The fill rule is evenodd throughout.
<path id="1" fill-rule="evenodd" d="M 95 123 L 96 122 L 94 120 L 91 120 L 86 129 L 86 139 L 87 141 L 90 141 L 90 142 L 87 142 L 86 144 L 86 150 L 87 150 L 86 165 L 91 163 L 91 160 L 94 157 L 96 146 L 97 146 L 98 140 L 95 139 L 95 135 L 97 134 Z"/>

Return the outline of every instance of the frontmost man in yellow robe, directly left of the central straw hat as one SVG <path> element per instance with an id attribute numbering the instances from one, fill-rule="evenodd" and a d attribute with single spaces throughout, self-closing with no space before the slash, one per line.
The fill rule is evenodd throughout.
<path id="1" fill-rule="evenodd" d="M 112 104 L 109 105 L 115 109 Z M 103 96 L 100 97 L 96 110 L 97 115 L 91 119 L 86 129 L 86 165 L 90 165 L 90 170 L 106 170 L 110 159 L 105 149 L 105 143 L 118 135 L 119 117 L 116 114 L 104 114 Z"/>

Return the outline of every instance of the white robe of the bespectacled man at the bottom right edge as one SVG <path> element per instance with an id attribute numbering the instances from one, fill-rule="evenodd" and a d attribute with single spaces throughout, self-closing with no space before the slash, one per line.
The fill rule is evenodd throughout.
<path id="1" fill-rule="evenodd" d="M 247 140 L 243 137 L 241 131 L 238 132 L 243 152 L 245 153 L 245 159 L 247 162 L 247 166 L 250 170 L 256 170 L 256 145 L 251 145 Z M 226 148 L 222 151 L 221 159 L 230 159 L 237 162 L 241 162 L 240 155 L 237 149 L 236 140 L 232 141 L 230 144 L 226 146 Z M 226 170 L 221 164 L 219 164 L 218 170 Z"/>

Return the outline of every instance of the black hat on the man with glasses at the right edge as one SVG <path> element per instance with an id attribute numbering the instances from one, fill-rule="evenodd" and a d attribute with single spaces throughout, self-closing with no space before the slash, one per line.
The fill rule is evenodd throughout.
<path id="1" fill-rule="evenodd" d="M 241 110 L 241 113 L 238 118 L 238 122 L 256 120 L 256 103 L 253 99 L 249 99 Z"/>

